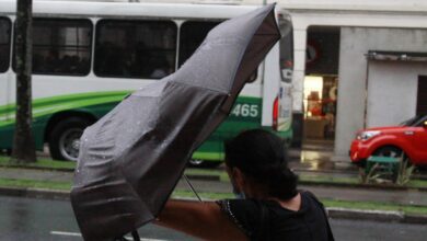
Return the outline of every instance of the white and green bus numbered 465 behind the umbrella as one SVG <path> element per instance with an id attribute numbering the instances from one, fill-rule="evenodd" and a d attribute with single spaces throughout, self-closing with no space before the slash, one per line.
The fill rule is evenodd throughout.
<path id="1" fill-rule="evenodd" d="M 210 28 L 257 7 L 35 1 L 33 124 L 37 149 L 77 160 L 83 129 L 125 95 L 174 72 Z M 282 38 L 254 73 L 228 119 L 193 163 L 223 159 L 222 142 L 262 127 L 291 133 L 292 26 L 277 12 Z M 15 1 L 0 1 L 0 149 L 12 148 L 15 119 Z M 218 162 L 217 162 L 218 163 Z"/>

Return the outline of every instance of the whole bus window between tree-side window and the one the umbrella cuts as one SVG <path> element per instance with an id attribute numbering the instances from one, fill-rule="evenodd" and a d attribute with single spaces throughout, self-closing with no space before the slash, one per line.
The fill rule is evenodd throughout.
<path id="1" fill-rule="evenodd" d="M 172 21 L 102 20 L 96 25 L 94 72 L 161 79 L 175 70 L 176 33 Z"/>

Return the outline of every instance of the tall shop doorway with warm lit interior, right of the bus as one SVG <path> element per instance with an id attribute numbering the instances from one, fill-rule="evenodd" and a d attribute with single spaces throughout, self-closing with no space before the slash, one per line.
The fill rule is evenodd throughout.
<path id="1" fill-rule="evenodd" d="M 310 26 L 303 87 L 303 150 L 333 151 L 335 139 L 338 26 Z"/>

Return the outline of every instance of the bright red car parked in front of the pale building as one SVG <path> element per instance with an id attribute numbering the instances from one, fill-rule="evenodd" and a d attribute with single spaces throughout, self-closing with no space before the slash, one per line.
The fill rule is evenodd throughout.
<path id="1" fill-rule="evenodd" d="M 399 126 L 359 130 L 349 154 L 353 163 L 363 165 L 370 156 L 401 157 L 402 152 L 413 164 L 427 164 L 427 115 Z"/>

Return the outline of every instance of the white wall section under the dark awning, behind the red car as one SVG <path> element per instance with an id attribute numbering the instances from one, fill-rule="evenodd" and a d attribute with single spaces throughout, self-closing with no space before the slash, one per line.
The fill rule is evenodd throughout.
<path id="1" fill-rule="evenodd" d="M 369 61 L 367 126 L 393 126 L 415 116 L 419 74 L 427 74 L 427 62 Z"/>

